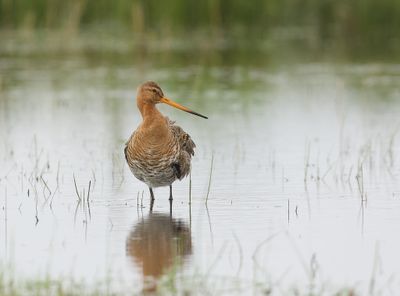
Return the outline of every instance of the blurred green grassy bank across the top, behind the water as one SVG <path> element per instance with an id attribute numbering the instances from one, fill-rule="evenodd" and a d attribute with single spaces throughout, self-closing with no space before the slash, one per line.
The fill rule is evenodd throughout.
<path id="1" fill-rule="evenodd" d="M 98 28 L 143 36 L 188 32 L 257 40 L 269 34 L 313 47 L 393 54 L 399 45 L 398 0 L 0 0 L 2 29 Z"/>

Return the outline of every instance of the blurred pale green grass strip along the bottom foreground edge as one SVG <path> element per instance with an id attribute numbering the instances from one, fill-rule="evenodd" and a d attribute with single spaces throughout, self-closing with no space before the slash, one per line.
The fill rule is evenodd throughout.
<path id="1" fill-rule="evenodd" d="M 314 289 L 279 287 L 263 282 L 243 281 L 239 278 L 224 278 L 208 275 L 181 275 L 171 269 L 157 283 L 157 290 L 127 289 L 125 284 L 115 285 L 109 280 L 88 284 L 73 278 L 53 279 L 50 276 L 35 279 L 12 278 L 0 270 L 0 296 L 95 296 L 95 295 L 276 295 L 287 296 L 357 296 L 355 288 Z M 370 294 L 374 295 L 374 293 Z"/>

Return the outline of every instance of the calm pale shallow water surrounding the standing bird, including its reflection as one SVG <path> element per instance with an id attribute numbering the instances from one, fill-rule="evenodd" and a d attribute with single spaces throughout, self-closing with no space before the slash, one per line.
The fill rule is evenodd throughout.
<path id="1" fill-rule="evenodd" d="M 0 262 L 18 276 L 123 293 L 168 281 L 200 294 L 400 288 L 398 64 L 7 38 Z M 174 183 L 172 214 L 167 188 L 149 212 L 123 156 L 147 79 L 209 116 L 160 106 L 197 144 L 192 203 L 189 178 Z"/>

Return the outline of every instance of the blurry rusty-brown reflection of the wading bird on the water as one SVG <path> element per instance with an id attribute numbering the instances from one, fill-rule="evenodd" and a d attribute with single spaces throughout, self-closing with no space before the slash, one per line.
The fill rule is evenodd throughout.
<path id="1" fill-rule="evenodd" d="M 172 268 L 180 267 L 192 253 L 190 228 L 172 215 L 150 212 L 129 233 L 126 253 L 142 268 L 144 291 L 156 291 L 157 280 Z"/>

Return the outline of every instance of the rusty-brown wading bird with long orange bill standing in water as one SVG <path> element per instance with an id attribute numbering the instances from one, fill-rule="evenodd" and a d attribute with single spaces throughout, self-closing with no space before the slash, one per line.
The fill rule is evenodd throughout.
<path id="1" fill-rule="evenodd" d="M 172 206 L 172 183 L 190 173 L 190 162 L 196 147 L 188 133 L 157 109 L 159 103 L 208 119 L 165 97 L 161 87 L 154 81 L 139 86 L 136 104 L 142 122 L 126 142 L 124 154 L 132 174 L 149 187 L 151 209 L 153 188 L 156 187 L 169 186 Z"/>

